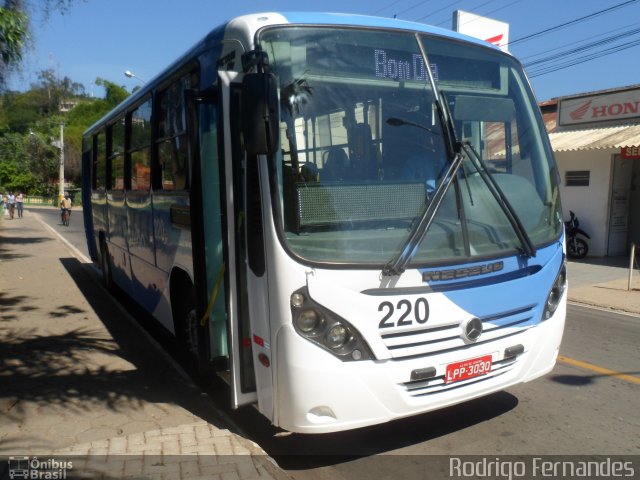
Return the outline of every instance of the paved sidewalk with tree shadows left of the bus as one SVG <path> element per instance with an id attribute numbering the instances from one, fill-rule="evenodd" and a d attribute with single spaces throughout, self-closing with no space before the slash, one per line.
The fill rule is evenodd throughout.
<path id="1" fill-rule="evenodd" d="M 32 213 L 0 219 L 0 456 L 73 455 L 91 478 L 289 478 L 90 276 Z"/>

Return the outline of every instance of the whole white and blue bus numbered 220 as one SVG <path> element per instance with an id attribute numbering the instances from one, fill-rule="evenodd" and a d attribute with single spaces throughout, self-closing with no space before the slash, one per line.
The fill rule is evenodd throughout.
<path id="1" fill-rule="evenodd" d="M 274 425 L 324 433 L 549 372 L 558 172 L 521 64 L 396 19 L 235 18 L 83 142 L 93 261 Z"/>

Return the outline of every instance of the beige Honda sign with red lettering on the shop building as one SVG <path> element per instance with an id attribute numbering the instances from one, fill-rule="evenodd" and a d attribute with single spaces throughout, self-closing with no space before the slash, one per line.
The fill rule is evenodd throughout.
<path id="1" fill-rule="evenodd" d="M 560 125 L 640 118 L 640 89 L 560 100 Z"/>

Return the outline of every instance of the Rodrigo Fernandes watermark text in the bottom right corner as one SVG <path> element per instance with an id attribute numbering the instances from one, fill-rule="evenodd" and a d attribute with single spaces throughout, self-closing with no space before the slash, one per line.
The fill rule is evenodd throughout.
<path id="1" fill-rule="evenodd" d="M 613 457 L 450 457 L 449 478 L 636 478 L 634 461 Z"/>

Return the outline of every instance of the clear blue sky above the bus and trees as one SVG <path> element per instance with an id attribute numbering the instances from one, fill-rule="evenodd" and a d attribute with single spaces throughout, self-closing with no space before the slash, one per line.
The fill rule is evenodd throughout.
<path id="1" fill-rule="evenodd" d="M 40 1 L 31 0 L 31 47 L 9 81 L 12 90 L 28 89 L 37 72 L 53 69 L 96 97 L 104 95 L 96 78 L 131 91 L 217 25 L 267 11 L 396 16 L 451 29 L 453 12 L 463 10 L 509 24 L 509 51 L 525 65 L 539 101 L 640 84 L 640 0 L 75 0 L 46 19 Z M 602 56 L 605 50 L 614 53 Z"/>

